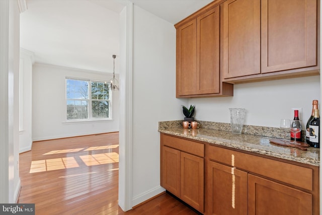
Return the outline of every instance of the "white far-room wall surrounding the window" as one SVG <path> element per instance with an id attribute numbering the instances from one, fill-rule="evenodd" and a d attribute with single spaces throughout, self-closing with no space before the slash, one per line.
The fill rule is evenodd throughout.
<path id="1" fill-rule="evenodd" d="M 117 64 L 117 62 L 115 62 Z M 45 64 L 33 66 L 33 141 L 119 130 L 119 92 L 112 95 L 113 120 L 65 122 L 65 77 L 109 81 L 112 74 Z"/>

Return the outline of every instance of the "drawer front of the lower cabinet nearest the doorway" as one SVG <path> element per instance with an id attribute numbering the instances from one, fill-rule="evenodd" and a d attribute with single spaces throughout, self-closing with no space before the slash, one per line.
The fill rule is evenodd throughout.
<path id="1" fill-rule="evenodd" d="M 190 141 L 187 139 L 182 139 L 174 136 L 169 136 L 166 134 L 161 134 L 161 142 L 164 146 L 168 146 L 182 152 L 187 152 L 192 155 L 199 157 L 204 157 L 205 155 L 205 145 L 199 142 Z"/>

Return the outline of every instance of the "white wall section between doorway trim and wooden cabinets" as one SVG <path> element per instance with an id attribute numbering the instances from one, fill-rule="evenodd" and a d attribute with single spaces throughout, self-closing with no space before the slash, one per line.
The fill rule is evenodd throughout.
<path id="1" fill-rule="evenodd" d="M 176 30 L 162 19 L 133 8 L 133 201 L 136 205 L 160 187 L 158 121 L 177 120 Z"/>

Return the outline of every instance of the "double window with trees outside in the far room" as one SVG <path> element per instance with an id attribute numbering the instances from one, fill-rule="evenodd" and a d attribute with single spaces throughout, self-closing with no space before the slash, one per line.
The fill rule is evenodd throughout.
<path id="1" fill-rule="evenodd" d="M 109 119 L 110 107 L 110 83 L 66 78 L 67 120 Z"/>

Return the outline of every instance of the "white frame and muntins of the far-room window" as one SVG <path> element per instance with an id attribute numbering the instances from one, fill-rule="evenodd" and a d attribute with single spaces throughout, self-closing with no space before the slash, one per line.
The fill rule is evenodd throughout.
<path id="1" fill-rule="evenodd" d="M 77 99 L 67 99 L 67 80 L 76 80 L 76 81 L 85 81 L 88 82 L 88 99 L 79 99 L 79 100 L 86 100 L 88 102 L 87 104 L 87 111 L 88 111 L 88 118 L 87 119 L 67 119 L 67 100 L 77 100 Z M 107 101 L 108 102 L 108 106 L 109 106 L 109 116 L 108 118 L 93 118 L 93 113 L 92 113 L 92 82 L 95 83 L 105 83 L 105 84 L 109 84 L 110 83 L 108 81 L 104 81 L 104 80 L 97 80 L 97 79 L 87 79 L 87 78 L 75 78 L 75 77 L 65 77 L 65 102 L 64 102 L 64 106 L 65 106 L 65 111 L 64 111 L 64 122 L 65 123 L 75 123 L 75 122 L 92 122 L 92 121 L 108 121 L 108 120 L 113 120 L 112 118 L 112 89 L 109 86 L 109 99 L 108 100 L 102 100 L 102 101 Z M 99 101 L 97 99 L 93 99 L 94 101 Z"/>

